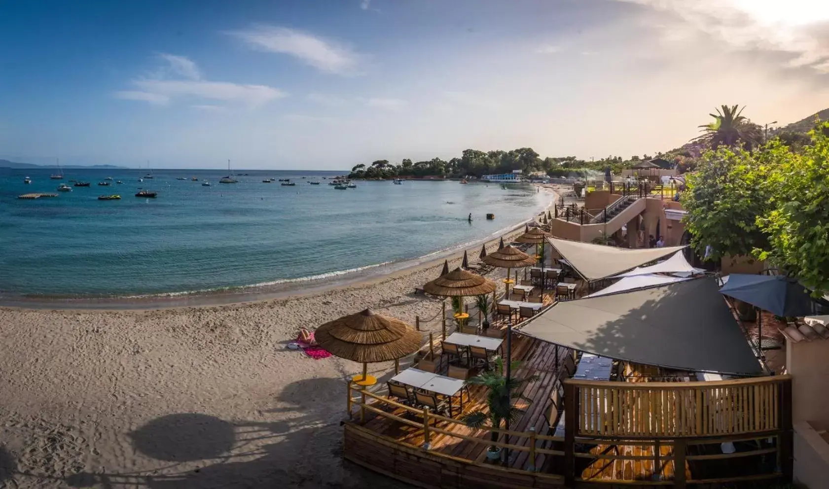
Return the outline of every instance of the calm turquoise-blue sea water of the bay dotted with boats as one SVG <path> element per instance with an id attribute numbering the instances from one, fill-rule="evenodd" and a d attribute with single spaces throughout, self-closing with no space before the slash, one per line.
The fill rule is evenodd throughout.
<path id="1" fill-rule="evenodd" d="M 153 180 L 138 182 L 145 172 L 69 169 L 62 182 L 92 185 L 59 193 L 61 181 L 50 180 L 48 169 L 0 169 L 0 294 L 101 298 L 301 287 L 480 243 L 550 199 L 529 185 L 356 182 L 342 191 L 322 180 L 336 172 L 235 172 L 249 175 L 223 185 L 221 171 L 156 170 Z M 97 186 L 104 177 L 124 184 Z M 205 179 L 213 186 L 201 186 Z M 158 198 L 135 197 L 139 187 Z M 27 192 L 59 196 L 17 199 Z M 97 200 L 113 193 L 121 200 Z M 497 218 L 485 220 L 488 212 Z"/>

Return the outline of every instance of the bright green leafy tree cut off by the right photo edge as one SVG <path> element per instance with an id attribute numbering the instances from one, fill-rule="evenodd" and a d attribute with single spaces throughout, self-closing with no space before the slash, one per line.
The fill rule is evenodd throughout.
<path id="1" fill-rule="evenodd" d="M 758 246 L 759 259 L 796 274 L 816 295 L 829 292 L 829 123 L 813 130 L 811 144 L 792 153 L 771 144 L 775 162 L 764 175 L 764 189 L 773 196 L 773 210 L 759 215 L 768 233 L 768 249 Z"/>

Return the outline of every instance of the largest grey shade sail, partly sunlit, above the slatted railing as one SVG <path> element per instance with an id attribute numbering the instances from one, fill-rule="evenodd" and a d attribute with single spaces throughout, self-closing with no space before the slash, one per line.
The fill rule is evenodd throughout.
<path id="1" fill-rule="evenodd" d="M 521 334 L 634 363 L 730 375 L 763 373 L 715 278 L 556 303 Z"/>

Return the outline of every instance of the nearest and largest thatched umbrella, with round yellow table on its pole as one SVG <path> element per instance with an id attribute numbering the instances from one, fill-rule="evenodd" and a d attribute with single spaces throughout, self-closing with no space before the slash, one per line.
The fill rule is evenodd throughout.
<path id="1" fill-rule="evenodd" d="M 376 383 L 367 375 L 367 364 L 397 361 L 420 348 L 420 333 L 413 327 L 370 309 L 326 322 L 314 332 L 314 339 L 332 355 L 363 364 L 362 375 L 352 380 L 366 385 Z"/>

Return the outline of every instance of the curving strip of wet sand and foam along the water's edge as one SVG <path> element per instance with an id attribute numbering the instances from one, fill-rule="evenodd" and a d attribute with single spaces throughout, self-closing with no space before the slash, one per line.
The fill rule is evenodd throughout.
<path id="1" fill-rule="evenodd" d="M 361 269 L 344 274 L 342 278 L 317 278 L 302 280 L 302 278 L 293 281 L 287 280 L 283 283 L 278 283 L 270 286 L 240 286 L 238 288 L 230 288 L 229 290 L 221 290 L 216 292 L 196 291 L 192 293 L 158 293 L 147 294 L 141 296 L 119 296 L 119 297 L 99 297 L 99 298 L 54 298 L 42 296 L 7 296 L 0 295 L 0 307 L 8 309 L 23 309 L 23 310 L 104 310 L 104 311 L 145 311 L 156 309 L 172 309 L 179 307 L 213 307 L 213 306 L 230 306 L 245 303 L 259 303 L 269 301 L 288 301 L 293 298 L 307 298 L 314 296 L 321 296 L 326 293 L 332 293 L 337 290 L 349 290 L 352 288 L 363 288 L 382 283 L 385 280 L 404 277 L 410 274 L 415 274 L 424 269 L 429 269 L 444 259 L 453 261 L 463 257 L 464 249 L 469 247 L 478 247 L 486 245 L 487 249 L 492 244 L 503 236 L 505 239 L 516 235 L 517 231 L 522 226 L 531 220 L 535 220 L 543 212 L 546 212 L 555 205 L 558 198 L 558 190 L 560 186 L 550 185 L 542 186 L 539 184 L 532 184 L 542 191 L 551 193 L 553 198 L 548 206 L 545 206 L 540 212 L 528 217 L 526 220 L 521 220 L 515 225 L 507 226 L 506 231 L 503 231 L 497 237 L 487 236 L 480 240 L 474 240 L 471 244 L 464 246 L 463 244 L 454 244 L 446 249 L 440 249 L 430 254 L 423 256 L 400 260 L 399 262 L 392 262 L 389 264 L 369 264 Z M 458 248 L 459 247 L 459 248 Z M 434 256 L 433 256 L 434 255 Z M 475 259 L 472 259 L 473 261 Z M 378 270 L 379 269 L 379 270 Z"/>

